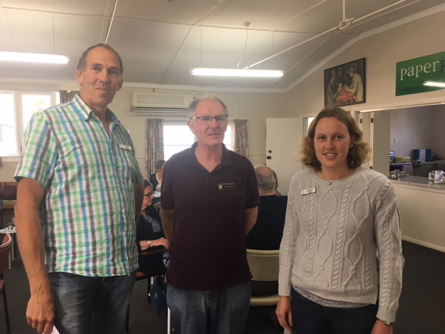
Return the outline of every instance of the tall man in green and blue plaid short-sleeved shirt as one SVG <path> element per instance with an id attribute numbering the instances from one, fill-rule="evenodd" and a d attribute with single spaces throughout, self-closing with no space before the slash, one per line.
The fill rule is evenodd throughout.
<path id="1" fill-rule="evenodd" d="M 15 173 L 15 217 L 29 278 L 28 324 L 49 334 L 124 333 L 138 268 L 135 218 L 143 176 L 133 143 L 108 109 L 122 87 L 122 59 L 86 49 L 80 94 L 35 113 Z"/>

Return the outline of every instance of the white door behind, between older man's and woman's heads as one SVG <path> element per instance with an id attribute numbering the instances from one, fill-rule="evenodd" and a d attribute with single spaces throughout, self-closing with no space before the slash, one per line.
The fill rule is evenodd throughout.
<path id="1" fill-rule="evenodd" d="M 266 165 L 277 173 L 282 195 L 289 193 L 293 175 L 303 169 L 295 159 L 302 136 L 302 118 L 266 118 Z"/>

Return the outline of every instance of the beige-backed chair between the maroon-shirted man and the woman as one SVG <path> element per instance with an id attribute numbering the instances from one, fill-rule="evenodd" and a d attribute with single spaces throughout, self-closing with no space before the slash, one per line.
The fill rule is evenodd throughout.
<path id="1" fill-rule="evenodd" d="M 248 264 L 252 273 L 251 307 L 267 307 L 272 309 L 272 320 L 277 328 L 281 328 L 275 315 L 278 296 L 278 268 L 280 250 L 248 249 Z"/>

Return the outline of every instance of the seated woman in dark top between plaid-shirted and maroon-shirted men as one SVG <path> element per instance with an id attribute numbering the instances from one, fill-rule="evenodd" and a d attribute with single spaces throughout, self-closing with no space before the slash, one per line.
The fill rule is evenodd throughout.
<path id="1" fill-rule="evenodd" d="M 138 225 L 136 226 L 136 246 L 139 254 L 151 247 L 164 246 L 168 249 L 168 241 L 165 239 L 162 230 L 161 216 L 158 210 L 152 205 L 153 186 L 147 180 L 144 180 L 144 198 Z M 164 274 L 168 262 L 163 262 L 163 252 L 139 256 L 139 269 L 147 276 L 156 276 Z"/>

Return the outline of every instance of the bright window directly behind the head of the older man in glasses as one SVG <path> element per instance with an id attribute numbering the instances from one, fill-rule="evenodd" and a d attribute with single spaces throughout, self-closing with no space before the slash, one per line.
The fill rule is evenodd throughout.
<path id="1" fill-rule="evenodd" d="M 184 122 L 164 122 L 164 159 L 168 160 L 173 154 L 190 148 L 195 143 L 195 136 Z M 224 144 L 232 150 L 232 125 L 229 122 L 224 136 Z"/>

